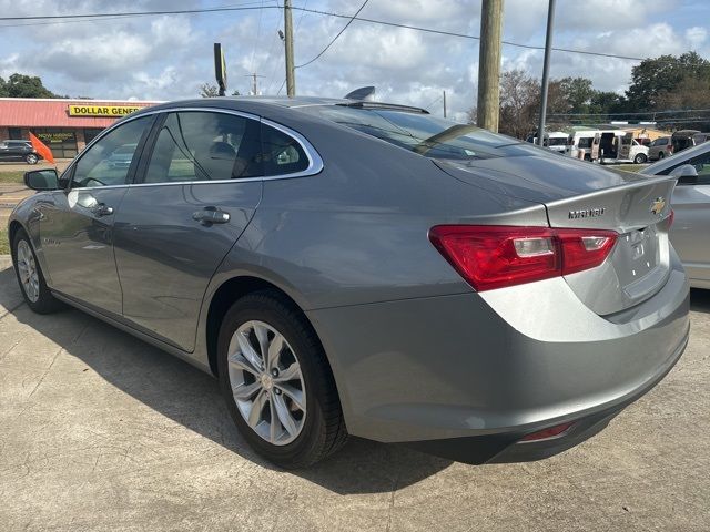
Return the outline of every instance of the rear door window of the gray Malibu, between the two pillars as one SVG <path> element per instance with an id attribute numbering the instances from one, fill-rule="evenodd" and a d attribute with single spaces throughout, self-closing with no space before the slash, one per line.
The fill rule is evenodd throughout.
<path id="1" fill-rule="evenodd" d="M 258 121 L 226 113 L 184 111 L 165 117 L 144 182 L 239 180 L 261 175 Z"/>

